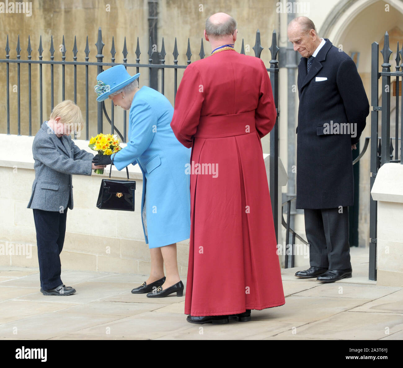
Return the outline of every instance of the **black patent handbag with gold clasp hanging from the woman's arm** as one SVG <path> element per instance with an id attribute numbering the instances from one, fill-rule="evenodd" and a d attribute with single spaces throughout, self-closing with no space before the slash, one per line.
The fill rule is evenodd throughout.
<path id="1" fill-rule="evenodd" d="M 112 156 L 112 163 L 116 153 Z M 97 207 L 117 211 L 134 211 L 134 192 L 136 182 L 129 180 L 129 169 L 126 166 L 127 180 L 111 180 L 112 163 L 109 179 L 102 179 Z"/>

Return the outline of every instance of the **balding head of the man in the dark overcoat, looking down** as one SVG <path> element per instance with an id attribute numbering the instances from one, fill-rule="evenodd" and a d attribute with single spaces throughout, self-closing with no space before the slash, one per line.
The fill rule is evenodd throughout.
<path id="1" fill-rule="evenodd" d="M 288 25 L 287 36 L 294 50 L 306 58 L 315 52 L 321 41 L 314 22 L 308 17 L 294 18 Z"/>

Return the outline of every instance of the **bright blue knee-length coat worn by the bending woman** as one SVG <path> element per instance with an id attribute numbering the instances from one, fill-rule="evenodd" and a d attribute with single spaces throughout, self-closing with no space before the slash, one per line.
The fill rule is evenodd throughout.
<path id="1" fill-rule="evenodd" d="M 143 231 L 149 248 L 190 236 L 190 175 L 185 165 L 191 150 L 172 132 L 173 112 L 163 94 L 143 86 L 131 104 L 127 146 L 113 160 L 118 170 L 132 163 L 143 172 L 141 213 L 145 202 L 147 235 L 144 222 Z"/>

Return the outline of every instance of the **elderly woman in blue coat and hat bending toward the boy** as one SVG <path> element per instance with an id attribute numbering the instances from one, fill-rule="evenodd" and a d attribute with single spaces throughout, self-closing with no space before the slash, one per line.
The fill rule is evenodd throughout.
<path id="1" fill-rule="evenodd" d="M 143 172 L 141 217 L 145 243 L 151 253 L 150 277 L 131 292 L 147 297 L 183 295 L 177 266 L 176 243 L 190 236 L 190 148 L 174 136 L 170 122 L 173 107 L 160 92 L 139 88 L 139 73 L 131 77 L 123 65 L 100 73 L 94 87 L 97 101 L 106 98 L 129 112 L 127 146 L 114 154 L 118 170 L 139 164 Z M 96 165 L 108 165 L 111 156 L 97 155 Z M 164 276 L 164 263 L 166 278 Z"/>

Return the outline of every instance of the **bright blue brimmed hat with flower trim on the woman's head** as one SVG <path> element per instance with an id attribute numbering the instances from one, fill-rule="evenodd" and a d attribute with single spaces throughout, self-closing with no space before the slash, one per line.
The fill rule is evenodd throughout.
<path id="1" fill-rule="evenodd" d="M 97 101 L 106 100 L 109 95 L 116 92 L 139 77 L 140 73 L 133 75 L 127 73 L 124 65 L 115 65 L 112 68 L 104 70 L 97 76 L 97 85 L 94 86 L 95 93 L 98 94 Z"/>

